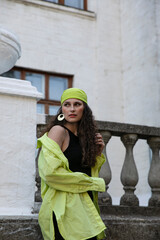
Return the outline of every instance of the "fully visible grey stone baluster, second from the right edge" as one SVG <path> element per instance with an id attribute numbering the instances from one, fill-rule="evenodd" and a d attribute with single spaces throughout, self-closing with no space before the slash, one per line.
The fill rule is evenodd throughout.
<path id="1" fill-rule="evenodd" d="M 126 156 L 121 172 L 121 182 L 125 194 L 121 197 L 120 205 L 137 206 L 139 200 L 134 194 L 135 186 L 138 183 L 138 172 L 133 156 L 133 147 L 136 144 L 138 136 L 136 134 L 125 134 L 121 137 L 126 148 Z"/>

